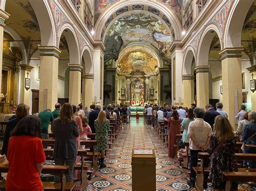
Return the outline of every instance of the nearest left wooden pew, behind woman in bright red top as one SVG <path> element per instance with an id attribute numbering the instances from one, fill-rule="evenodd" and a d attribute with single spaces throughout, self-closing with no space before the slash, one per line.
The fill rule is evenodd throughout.
<path id="1" fill-rule="evenodd" d="M 8 164 L 0 164 L 0 173 L 8 173 Z M 66 182 L 65 174 L 69 173 L 69 166 L 44 165 L 42 174 L 60 174 L 60 182 L 43 182 L 44 190 L 72 190 L 77 182 Z M 0 189 L 5 190 L 6 181 L 0 181 Z"/>

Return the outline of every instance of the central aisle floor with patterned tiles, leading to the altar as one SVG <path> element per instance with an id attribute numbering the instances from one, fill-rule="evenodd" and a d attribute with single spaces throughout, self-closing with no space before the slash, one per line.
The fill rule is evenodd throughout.
<path id="1" fill-rule="evenodd" d="M 107 152 L 107 167 L 98 170 L 86 190 L 132 190 L 132 148 L 155 149 L 157 190 L 192 190 L 183 169 L 168 157 L 166 145 L 150 125 L 144 125 L 143 117 L 131 117 L 130 124 L 124 126 Z"/>

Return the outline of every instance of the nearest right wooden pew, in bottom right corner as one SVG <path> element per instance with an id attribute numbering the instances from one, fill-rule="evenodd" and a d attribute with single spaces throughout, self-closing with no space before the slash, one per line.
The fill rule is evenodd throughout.
<path id="1" fill-rule="evenodd" d="M 255 181 L 256 172 L 223 172 L 222 180 L 227 181 L 225 190 L 231 190 L 232 182 Z M 246 190 L 251 190 L 251 189 L 246 189 Z"/>

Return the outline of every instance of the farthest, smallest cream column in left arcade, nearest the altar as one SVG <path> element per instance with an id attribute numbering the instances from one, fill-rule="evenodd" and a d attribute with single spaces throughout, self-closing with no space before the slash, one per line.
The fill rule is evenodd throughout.
<path id="1" fill-rule="evenodd" d="M 83 87 L 82 87 L 82 103 L 88 108 L 93 102 L 93 78 L 94 74 L 83 74 Z"/>

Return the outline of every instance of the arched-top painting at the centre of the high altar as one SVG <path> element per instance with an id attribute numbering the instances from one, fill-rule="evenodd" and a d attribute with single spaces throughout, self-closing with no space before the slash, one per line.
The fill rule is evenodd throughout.
<path id="1" fill-rule="evenodd" d="M 136 79 L 131 82 L 131 104 L 144 104 L 144 81 Z"/>

